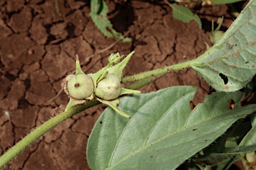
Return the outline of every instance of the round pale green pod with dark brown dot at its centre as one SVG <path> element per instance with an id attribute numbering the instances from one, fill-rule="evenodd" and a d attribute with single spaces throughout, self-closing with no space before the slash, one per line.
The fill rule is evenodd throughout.
<path id="1" fill-rule="evenodd" d="M 74 75 L 69 77 L 67 89 L 72 98 L 85 99 L 93 94 L 93 80 L 87 74 Z"/>

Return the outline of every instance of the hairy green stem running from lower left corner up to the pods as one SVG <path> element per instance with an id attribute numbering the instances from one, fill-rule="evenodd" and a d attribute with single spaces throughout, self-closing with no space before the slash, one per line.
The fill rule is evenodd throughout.
<path id="1" fill-rule="evenodd" d="M 0 169 L 9 163 L 14 157 L 19 155 L 26 147 L 31 145 L 33 141 L 38 139 L 41 135 L 49 131 L 49 129 L 54 128 L 64 120 L 67 120 L 68 118 L 71 118 L 75 114 L 87 109 L 91 108 L 92 106 L 95 106 L 99 104 L 97 100 L 90 100 L 89 102 L 85 102 L 85 104 L 82 104 L 80 106 L 76 106 L 74 108 L 71 108 L 67 112 L 62 112 L 61 114 L 58 114 L 57 116 L 51 118 L 41 126 L 37 127 L 34 131 L 31 131 L 26 137 L 24 137 L 21 141 L 19 141 L 16 145 L 11 147 L 9 151 L 7 151 L 5 154 L 3 154 L 0 157 Z"/>

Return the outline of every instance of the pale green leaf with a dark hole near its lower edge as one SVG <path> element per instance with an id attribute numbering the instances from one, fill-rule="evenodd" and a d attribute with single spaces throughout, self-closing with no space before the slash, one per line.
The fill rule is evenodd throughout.
<path id="1" fill-rule="evenodd" d="M 256 1 L 249 1 L 223 37 L 192 64 L 218 91 L 243 88 L 256 74 Z"/>

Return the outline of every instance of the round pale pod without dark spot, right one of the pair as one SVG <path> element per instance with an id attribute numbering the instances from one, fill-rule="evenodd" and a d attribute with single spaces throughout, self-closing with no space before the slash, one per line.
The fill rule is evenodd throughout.
<path id="1" fill-rule="evenodd" d="M 121 94 L 121 80 L 115 74 L 107 74 L 98 82 L 95 95 L 104 100 L 113 100 Z"/>

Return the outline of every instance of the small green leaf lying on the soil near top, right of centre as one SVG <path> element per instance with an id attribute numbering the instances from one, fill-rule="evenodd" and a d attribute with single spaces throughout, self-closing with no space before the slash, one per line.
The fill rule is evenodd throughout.
<path id="1" fill-rule="evenodd" d="M 184 23 L 189 23 L 191 20 L 197 21 L 199 25 L 199 29 L 202 29 L 202 23 L 198 15 L 193 14 L 189 9 L 183 7 L 181 5 L 177 5 L 176 3 L 169 4 L 173 9 L 173 17 L 178 19 Z"/>

